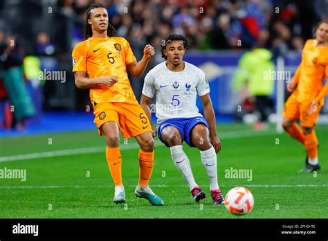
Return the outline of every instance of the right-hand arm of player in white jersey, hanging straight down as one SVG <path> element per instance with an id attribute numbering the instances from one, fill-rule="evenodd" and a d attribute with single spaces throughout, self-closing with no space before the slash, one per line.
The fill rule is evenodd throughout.
<path id="1" fill-rule="evenodd" d="M 210 100 L 210 94 L 206 93 L 204 96 L 201 96 L 201 104 L 203 105 L 205 118 L 210 125 L 210 142 L 215 148 L 215 152 L 221 150 L 221 141 L 217 136 L 217 124 L 215 121 L 215 113 L 212 106 L 212 101 Z"/>

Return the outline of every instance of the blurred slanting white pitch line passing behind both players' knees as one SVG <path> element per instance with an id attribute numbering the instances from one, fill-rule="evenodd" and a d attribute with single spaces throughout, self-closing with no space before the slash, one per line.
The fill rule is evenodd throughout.
<path id="1" fill-rule="evenodd" d="M 233 131 L 233 132 L 221 132 L 221 134 L 219 133 L 219 138 L 221 140 L 226 140 L 226 139 L 237 139 L 246 136 L 255 137 L 255 136 L 268 136 L 273 134 L 277 134 L 277 132 L 275 131 L 255 132 L 253 130 L 244 130 L 244 131 Z M 155 145 L 163 145 L 163 143 L 161 143 L 161 141 L 155 141 Z M 132 150 L 136 148 L 139 148 L 138 143 L 131 143 L 129 145 L 120 145 L 120 150 Z M 55 150 L 51 152 L 35 152 L 30 154 L 20 154 L 15 156 L 0 157 L 0 162 L 40 159 L 40 158 L 47 158 L 47 157 L 62 157 L 62 156 L 69 156 L 74 154 L 99 153 L 99 152 L 104 152 L 104 150 L 105 150 L 105 146 L 95 146 L 91 148 Z"/>

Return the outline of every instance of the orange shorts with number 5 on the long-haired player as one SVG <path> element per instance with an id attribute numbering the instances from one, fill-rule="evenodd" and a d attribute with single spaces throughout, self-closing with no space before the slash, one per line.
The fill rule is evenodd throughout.
<path id="1" fill-rule="evenodd" d="M 138 136 L 145 132 L 152 132 L 152 126 L 145 111 L 138 104 L 125 102 L 103 102 L 93 108 L 99 134 L 102 136 L 101 126 L 109 121 L 116 122 L 125 139 Z"/>

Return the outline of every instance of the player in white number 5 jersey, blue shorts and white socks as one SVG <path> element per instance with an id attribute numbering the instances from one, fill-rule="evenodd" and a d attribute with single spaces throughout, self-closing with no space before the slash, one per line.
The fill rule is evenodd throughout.
<path id="1" fill-rule="evenodd" d="M 224 204 L 217 183 L 217 152 L 221 150 L 221 142 L 217 137 L 210 87 L 201 69 L 183 61 L 187 49 L 188 41 L 181 35 L 172 34 L 163 39 L 162 57 L 166 61 L 147 73 L 140 105 L 151 120 L 149 104 L 156 95 L 158 137 L 170 148 L 172 160 L 187 181 L 194 200 L 199 202 L 206 198 L 206 194 L 194 180 L 190 161 L 183 152 L 183 141 L 200 150 L 201 161 L 210 179 L 212 202 Z M 196 106 L 197 93 L 205 118 Z M 153 130 L 153 136 L 156 136 L 154 127 Z"/>

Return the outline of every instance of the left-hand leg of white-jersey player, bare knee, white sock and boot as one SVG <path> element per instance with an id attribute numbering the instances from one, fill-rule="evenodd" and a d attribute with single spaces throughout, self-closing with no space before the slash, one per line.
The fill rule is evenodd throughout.
<path id="1" fill-rule="evenodd" d="M 170 148 L 172 161 L 185 181 L 187 181 L 194 200 L 199 202 L 201 199 L 204 199 L 206 194 L 199 188 L 196 181 L 194 181 L 190 161 L 183 151 L 181 132 L 174 126 L 166 125 L 163 129 L 158 128 L 158 135 L 161 135 L 161 141 Z"/>

